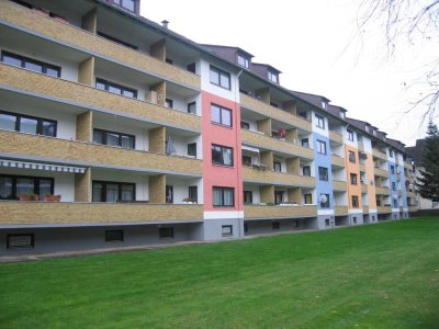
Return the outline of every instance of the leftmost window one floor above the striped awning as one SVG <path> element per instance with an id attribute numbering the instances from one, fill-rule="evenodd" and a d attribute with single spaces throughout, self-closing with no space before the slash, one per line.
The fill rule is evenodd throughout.
<path id="1" fill-rule="evenodd" d="M 56 121 L 0 112 L 0 129 L 56 137 Z"/>

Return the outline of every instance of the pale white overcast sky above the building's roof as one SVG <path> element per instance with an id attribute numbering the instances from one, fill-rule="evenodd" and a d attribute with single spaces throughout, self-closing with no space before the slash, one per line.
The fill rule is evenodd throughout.
<path id="1" fill-rule="evenodd" d="M 238 46 L 282 71 L 283 87 L 325 95 L 407 146 L 425 136 L 416 83 L 437 60 L 439 43 L 402 43 L 387 56 L 378 23 L 359 33 L 361 0 L 140 0 L 140 14 L 201 44 Z M 437 123 L 437 117 L 436 117 Z"/>

